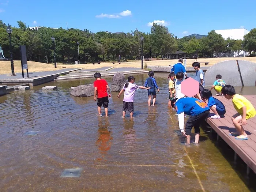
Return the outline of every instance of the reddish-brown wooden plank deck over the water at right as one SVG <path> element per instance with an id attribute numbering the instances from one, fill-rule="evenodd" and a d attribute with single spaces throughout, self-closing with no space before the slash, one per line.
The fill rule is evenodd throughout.
<path id="1" fill-rule="evenodd" d="M 248 135 L 248 140 L 236 140 L 234 136 L 229 135 L 230 132 L 236 131 L 236 128 L 231 121 L 231 117 L 237 113 L 231 99 L 228 100 L 225 97 L 214 97 L 219 99 L 225 105 L 226 114 L 224 115 L 224 118 L 220 119 L 207 118 L 207 123 L 247 164 L 247 174 L 249 174 L 248 167 L 256 173 L 256 117 L 247 120 L 247 125 L 243 126 Z M 256 108 L 256 95 L 244 95 L 244 97 Z"/>

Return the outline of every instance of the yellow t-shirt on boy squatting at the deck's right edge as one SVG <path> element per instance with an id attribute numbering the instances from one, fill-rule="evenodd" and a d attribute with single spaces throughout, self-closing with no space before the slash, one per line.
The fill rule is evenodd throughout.
<path id="1" fill-rule="evenodd" d="M 233 102 L 234 108 L 237 110 L 237 112 L 240 115 L 243 114 L 242 107 L 246 106 L 246 119 L 249 119 L 255 116 L 256 111 L 252 103 L 242 95 L 238 95 L 238 94 L 234 95 L 232 102 Z"/>

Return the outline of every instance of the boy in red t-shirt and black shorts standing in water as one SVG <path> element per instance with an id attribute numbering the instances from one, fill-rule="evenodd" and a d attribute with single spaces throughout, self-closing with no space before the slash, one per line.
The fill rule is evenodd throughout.
<path id="1" fill-rule="evenodd" d="M 94 82 L 94 101 L 96 101 L 96 95 L 98 92 L 97 105 L 98 105 L 99 116 L 102 116 L 101 106 L 103 104 L 103 107 L 105 108 L 106 117 L 108 117 L 108 104 L 109 104 L 109 98 L 111 98 L 108 83 L 106 82 L 105 79 L 101 79 L 101 74 L 99 72 L 96 72 L 94 74 L 94 78 L 96 79 Z M 107 89 L 109 91 L 109 94 L 107 92 Z"/>

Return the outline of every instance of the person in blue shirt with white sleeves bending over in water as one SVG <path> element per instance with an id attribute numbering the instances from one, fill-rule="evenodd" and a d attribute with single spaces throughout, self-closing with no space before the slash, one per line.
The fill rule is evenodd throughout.
<path id="1" fill-rule="evenodd" d="M 187 145 L 190 144 L 191 139 L 191 129 L 195 128 L 195 144 L 199 142 L 200 136 L 200 124 L 203 120 L 208 117 L 210 108 L 207 104 L 199 99 L 192 97 L 185 97 L 181 99 L 173 99 L 171 102 L 173 108 L 176 109 L 178 113 L 179 127 L 183 135 L 187 137 Z M 189 115 L 187 120 L 185 131 L 184 131 L 184 121 L 185 115 Z"/>

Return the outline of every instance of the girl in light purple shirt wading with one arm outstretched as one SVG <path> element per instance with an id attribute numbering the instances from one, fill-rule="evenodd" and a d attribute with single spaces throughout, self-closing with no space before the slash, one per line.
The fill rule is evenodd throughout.
<path id="1" fill-rule="evenodd" d="M 143 87 L 133 84 L 135 82 L 135 78 L 133 76 L 128 77 L 128 82 L 124 84 L 123 89 L 118 94 L 117 98 L 120 98 L 120 95 L 124 92 L 124 106 L 123 106 L 123 117 L 125 117 L 125 113 L 128 111 L 130 113 L 130 117 L 133 116 L 133 100 L 135 91 L 138 89 L 150 89 L 151 87 Z"/>

